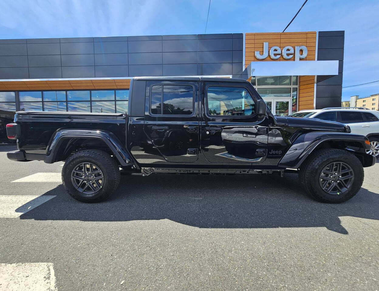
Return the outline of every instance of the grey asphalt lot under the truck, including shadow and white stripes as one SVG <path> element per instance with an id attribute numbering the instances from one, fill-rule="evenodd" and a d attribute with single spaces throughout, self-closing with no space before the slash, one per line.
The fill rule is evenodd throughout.
<path id="1" fill-rule="evenodd" d="M 17 272 L 59 291 L 379 289 L 379 163 L 343 204 L 313 201 L 294 174 L 122 176 L 109 201 L 83 204 L 63 162 L 12 162 L 12 149 L 0 146 L 1 291 Z"/>

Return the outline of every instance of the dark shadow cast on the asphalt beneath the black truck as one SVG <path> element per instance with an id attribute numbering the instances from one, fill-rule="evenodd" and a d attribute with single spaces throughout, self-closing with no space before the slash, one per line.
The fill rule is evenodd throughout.
<path id="1" fill-rule="evenodd" d="M 132 221 L 170 219 L 199 228 L 326 227 L 341 234 L 339 216 L 379 219 L 379 195 L 362 188 L 342 204 L 313 201 L 296 174 L 201 176 L 153 174 L 123 176 L 105 202 L 71 198 L 63 185 L 46 192 L 55 198 L 21 219 Z"/>

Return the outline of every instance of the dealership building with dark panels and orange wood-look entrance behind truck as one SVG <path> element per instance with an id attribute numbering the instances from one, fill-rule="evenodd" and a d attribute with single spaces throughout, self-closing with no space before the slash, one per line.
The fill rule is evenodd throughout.
<path id="1" fill-rule="evenodd" d="M 134 76 L 244 78 L 277 115 L 341 106 L 344 40 L 344 31 L 0 39 L 0 132 L 19 110 L 126 112 Z"/>

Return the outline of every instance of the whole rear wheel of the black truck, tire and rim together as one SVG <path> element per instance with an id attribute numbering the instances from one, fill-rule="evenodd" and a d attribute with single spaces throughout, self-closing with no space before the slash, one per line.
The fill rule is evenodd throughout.
<path id="1" fill-rule="evenodd" d="M 81 202 L 107 199 L 118 187 L 120 171 L 107 153 L 92 149 L 80 151 L 66 160 L 62 182 L 67 193 Z"/>

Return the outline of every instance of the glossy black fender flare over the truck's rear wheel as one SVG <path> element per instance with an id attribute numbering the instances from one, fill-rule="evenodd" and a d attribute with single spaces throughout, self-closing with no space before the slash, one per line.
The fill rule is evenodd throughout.
<path id="1" fill-rule="evenodd" d="M 120 142 L 117 136 L 110 131 L 106 130 L 92 130 L 92 129 L 58 129 L 50 139 L 47 146 L 45 163 L 56 162 L 56 155 L 62 143 L 67 139 L 73 138 L 88 138 L 102 140 L 112 151 L 120 165 L 128 166 L 133 164 L 133 159 L 128 153 L 127 149 Z"/>

